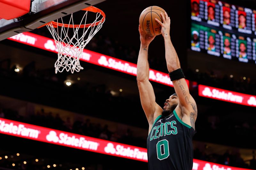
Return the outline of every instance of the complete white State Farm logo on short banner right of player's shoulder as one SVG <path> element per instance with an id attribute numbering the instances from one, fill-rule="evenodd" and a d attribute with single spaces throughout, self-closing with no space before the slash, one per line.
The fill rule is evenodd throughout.
<path id="1" fill-rule="evenodd" d="M 219 91 L 217 89 L 210 89 L 209 87 L 205 87 L 203 92 L 203 96 L 208 96 L 216 99 L 228 100 L 237 103 L 243 103 L 243 97 L 233 94 L 232 92 Z"/>

